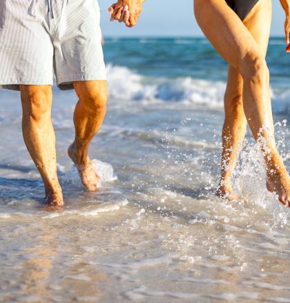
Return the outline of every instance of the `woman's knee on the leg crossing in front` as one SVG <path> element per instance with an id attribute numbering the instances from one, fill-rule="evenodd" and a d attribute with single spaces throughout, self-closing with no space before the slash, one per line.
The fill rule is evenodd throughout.
<path id="1" fill-rule="evenodd" d="M 262 84 L 267 80 L 269 70 L 260 54 L 247 54 L 240 62 L 240 73 L 244 81 Z"/>

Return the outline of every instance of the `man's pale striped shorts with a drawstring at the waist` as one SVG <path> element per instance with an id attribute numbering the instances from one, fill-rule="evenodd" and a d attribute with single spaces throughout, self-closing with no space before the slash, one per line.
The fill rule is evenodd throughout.
<path id="1" fill-rule="evenodd" d="M 105 80 L 97 0 L 0 0 L 0 87 Z"/>

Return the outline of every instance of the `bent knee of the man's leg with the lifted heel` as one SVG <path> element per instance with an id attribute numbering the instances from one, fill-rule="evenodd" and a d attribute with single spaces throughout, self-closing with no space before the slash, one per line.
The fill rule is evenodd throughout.
<path id="1" fill-rule="evenodd" d="M 108 100 L 108 89 L 106 84 L 89 85 L 85 90 L 81 90 L 79 101 L 89 111 L 99 112 L 106 109 Z"/>

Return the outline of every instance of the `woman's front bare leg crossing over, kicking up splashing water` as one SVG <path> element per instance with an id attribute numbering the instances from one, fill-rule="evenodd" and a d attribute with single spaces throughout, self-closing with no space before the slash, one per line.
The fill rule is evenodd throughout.
<path id="1" fill-rule="evenodd" d="M 262 10 L 269 0 L 259 2 Z M 290 178 L 278 154 L 273 134 L 269 71 L 264 56 L 249 30 L 225 1 L 195 0 L 194 4 L 195 17 L 206 37 L 242 75 L 244 113 L 255 140 L 262 138 L 264 141 L 262 151 L 267 165 L 267 188 L 276 191 L 279 200 L 289 206 Z M 262 29 L 268 28 L 267 22 L 265 19 L 260 23 Z"/>

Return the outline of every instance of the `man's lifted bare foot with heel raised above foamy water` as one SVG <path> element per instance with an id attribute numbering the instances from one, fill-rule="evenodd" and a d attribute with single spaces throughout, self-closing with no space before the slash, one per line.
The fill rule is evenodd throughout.
<path id="1" fill-rule="evenodd" d="M 81 178 L 81 182 L 88 191 L 96 191 L 99 189 L 101 178 L 97 175 L 97 171 L 95 171 L 95 167 L 93 167 L 89 158 L 86 159 L 85 163 L 81 163 L 77 156 L 75 143 L 72 143 L 68 148 L 68 156 L 70 156 L 72 162 L 75 163 L 75 167 L 77 167 L 77 171 L 79 172 L 79 178 Z"/>

